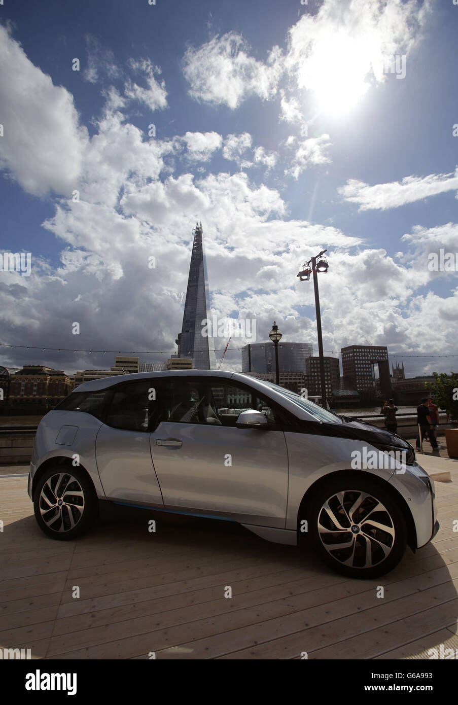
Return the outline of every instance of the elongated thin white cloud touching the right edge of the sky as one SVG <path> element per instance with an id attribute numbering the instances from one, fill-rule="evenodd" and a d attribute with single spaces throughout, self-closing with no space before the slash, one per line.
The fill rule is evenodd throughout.
<path id="1" fill-rule="evenodd" d="M 458 190 L 458 168 L 454 173 L 405 176 L 402 181 L 378 183 L 374 186 L 349 179 L 345 186 L 338 188 L 345 200 L 359 204 L 360 211 L 397 208 L 454 190 Z"/>

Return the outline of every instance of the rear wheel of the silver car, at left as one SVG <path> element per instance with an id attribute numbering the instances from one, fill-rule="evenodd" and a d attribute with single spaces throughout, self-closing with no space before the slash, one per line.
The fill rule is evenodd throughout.
<path id="1" fill-rule="evenodd" d="M 78 467 L 56 465 L 39 478 L 33 508 L 44 534 L 57 541 L 70 541 L 92 526 L 99 505 L 85 472 Z"/>

